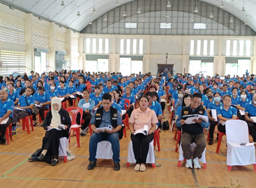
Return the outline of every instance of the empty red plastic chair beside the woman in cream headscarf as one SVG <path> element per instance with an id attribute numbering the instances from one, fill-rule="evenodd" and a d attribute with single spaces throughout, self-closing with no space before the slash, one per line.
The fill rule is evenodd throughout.
<path id="1" fill-rule="evenodd" d="M 66 109 L 68 112 L 71 112 L 72 110 L 77 110 L 77 113 L 80 113 L 81 114 L 81 117 L 80 117 L 80 124 L 79 126 L 81 126 L 82 124 L 82 117 L 83 117 L 83 109 L 81 107 L 68 107 Z M 71 128 L 70 128 L 70 132 L 69 132 L 69 142 L 70 142 L 70 133 L 71 133 L 71 130 L 73 130 L 73 134 L 75 132 L 75 137 L 76 137 L 76 142 L 77 142 L 77 148 L 80 147 L 80 128 L 72 128 L 73 125 L 77 124 L 76 123 L 76 117 L 77 117 L 77 113 L 72 113 L 71 112 Z"/>

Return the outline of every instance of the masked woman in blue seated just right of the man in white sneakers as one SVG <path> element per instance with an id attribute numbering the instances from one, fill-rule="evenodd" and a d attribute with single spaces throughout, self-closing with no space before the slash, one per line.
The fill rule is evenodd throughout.
<path id="1" fill-rule="evenodd" d="M 210 122 L 210 128 L 209 128 L 210 140 L 208 142 L 209 145 L 214 144 L 214 129 L 215 129 L 215 126 L 217 125 L 217 120 L 212 118 L 212 111 L 216 111 L 216 109 L 221 105 L 222 105 L 222 102 L 220 101 L 220 93 L 216 92 L 214 93 L 214 99 L 212 99 L 212 102 L 207 105 L 207 114 Z"/>

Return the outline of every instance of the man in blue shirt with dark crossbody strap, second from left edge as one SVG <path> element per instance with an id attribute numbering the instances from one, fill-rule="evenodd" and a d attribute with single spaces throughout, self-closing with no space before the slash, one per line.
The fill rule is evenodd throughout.
<path id="1" fill-rule="evenodd" d="M 19 109 L 15 109 L 13 113 L 13 120 L 12 120 L 13 135 L 16 134 L 16 124 L 18 120 L 31 115 L 31 109 L 35 105 L 35 100 L 32 93 L 33 93 L 33 87 L 28 86 L 26 87 L 25 95 L 20 96 L 20 100 L 18 103 Z"/>

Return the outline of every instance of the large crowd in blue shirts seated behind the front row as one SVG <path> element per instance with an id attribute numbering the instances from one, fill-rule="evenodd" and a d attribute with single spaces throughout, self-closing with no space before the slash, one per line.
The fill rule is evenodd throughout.
<path id="1" fill-rule="evenodd" d="M 163 112 L 166 108 L 166 101 L 167 105 L 169 105 L 168 103 L 174 105 L 174 114 L 176 114 L 174 119 L 180 122 L 179 113 L 183 107 L 191 105 L 192 95 L 199 93 L 201 97 L 196 96 L 195 98 L 198 101 L 201 99 L 201 105 L 199 106 L 210 120 L 210 140 L 208 142 L 210 145 L 214 144 L 214 128 L 216 125 L 218 125 L 220 132 L 225 132 L 224 122 L 236 118 L 247 122 L 253 141 L 256 142 L 256 124 L 252 118 L 256 116 L 255 85 L 254 75 L 247 77 L 234 76 L 232 78 L 227 75 L 224 79 L 220 79 L 218 75 L 204 77 L 199 74 L 177 74 L 173 77 L 168 73 L 164 78 L 160 73 L 156 77 L 152 77 L 151 73 L 145 75 L 139 73 L 123 77 L 121 73 L 86 73 L 84 71 L 63 70 L 60 72 L 50 71 L 41 75 L 31 71 L 30 76 L 24 73 L 24 75 L 15 78 L 12 75 L 4 79 L 0 76 L 0 87 L 6 89 L 7 98 L 13 101 L 15 109 L 15 111 L 9 109 L 11 114 L 8 113 L 12 121 L 13 135 L 17 134 L 16 125 L 19 120 L 28 115 L 33 115 L 34 126 L 37 125 L 36 115 L 32 113 L 34 106 L 39 109 L 40 120 L 42 120 L 43 125 L 44 111 L 51 111 L 49 105 L 54 97 L 58 97 L 62 103 L 69 101 L 70 106 L 75 105 L 73 102 L 78 99 L 78 107 L 81 107 L 84 111 L 83 114 L 80 114 L 83 120 L 81 136 L 86 136 L 94 113 L 97 109 L 104 107 L 102 103 L 104 93 L 111 95 L 111 107 L 117 109 L 118 113 L 127 109 L 129 117 L 133 110 L 137 108 L 136 101 L 139 101 L 138 99 L 146 94 L 147 97 L 143 100 L 148 104 L 149 109 L 156 113 L 157 126 L 161 125 L 160 121 L 164 118 Z M 126 101 L 129 101 L 129 106 L 127 106 Z M 110 107 L 108 108 L 110 109 Z M 216 117 L 214 117 L 213 111 L 216 111 Z M 201 122 L 197 123 L 198 125 L 203 124 Z M 94 124 L 96 123 L 94 122 Z M 182 124 L 179 124 L 179 127 L 181 127 L 179 130 L 182 130 L 182 126 Z M 207 127 L 205 124 L 203 126 Z M 94 130 L 96 131 L 93 128 Z M 1 134 L 1 143 L 4 142 L 4 139 L 3 134 Z M 92 162 L 89 169 L 94 168 L 94 165 L 96 165 L 94 162 Z M 139 169 L 144 163 L 144 158 L 143 161 L 138 159 L 137 162 L 140 166 L 136 169 Z M 116 164 L 115 169 L 119 169 L 117 166 Z M 188 166 L 191 167 L 190 164 Z"/>

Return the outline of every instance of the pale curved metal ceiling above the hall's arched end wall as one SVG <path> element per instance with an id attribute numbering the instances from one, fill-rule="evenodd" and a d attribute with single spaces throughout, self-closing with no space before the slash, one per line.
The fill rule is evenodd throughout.
<path id="1" fill-rule="evenodd" d="M 116 0 L 63 0 L 65 6 L 61 6 L 62 0 L 0 0 L 5 5 L 12 6 L 15 9 L 33 13 L 42 19 L 48 21 L 54 21 L 57 24 L 71 28 L 72 30 L 81 31 L 90 21 L 94 21 L 104 13 L 115 9 Z M 119 0 L 119 5 L 129 3 L 134 0 Z M 139 0 L 139 4 L 142 5 L 144 0 Z M 153 1 L 153 0 L 152 0 Z M 158 0 L 165 2 L 167 5 L 168 0 Z M 173 0 L 170 0 L 172 3 Z M 194 1 L 194 6 L 199 0 Z M 205 3 L 212 4 L 216 7 L 220 7 L 220 4 L 224 3 L 225 11 L 235 15 L 243 22 L 247 22 L 248 26 L 256 31 L 256 1 L 253 0 L 200 0 Z M 93 7 L 96 8 L 96 13 L 92 13 Z M 242 12 L 242 8 L 245 7 L 245 12 Z M 143 7 L 141 7 L 142 9 Z M 200 7 L 199 11 L 200 11 Z M 77 16 L 79 10 L 80 16 Z"/>

